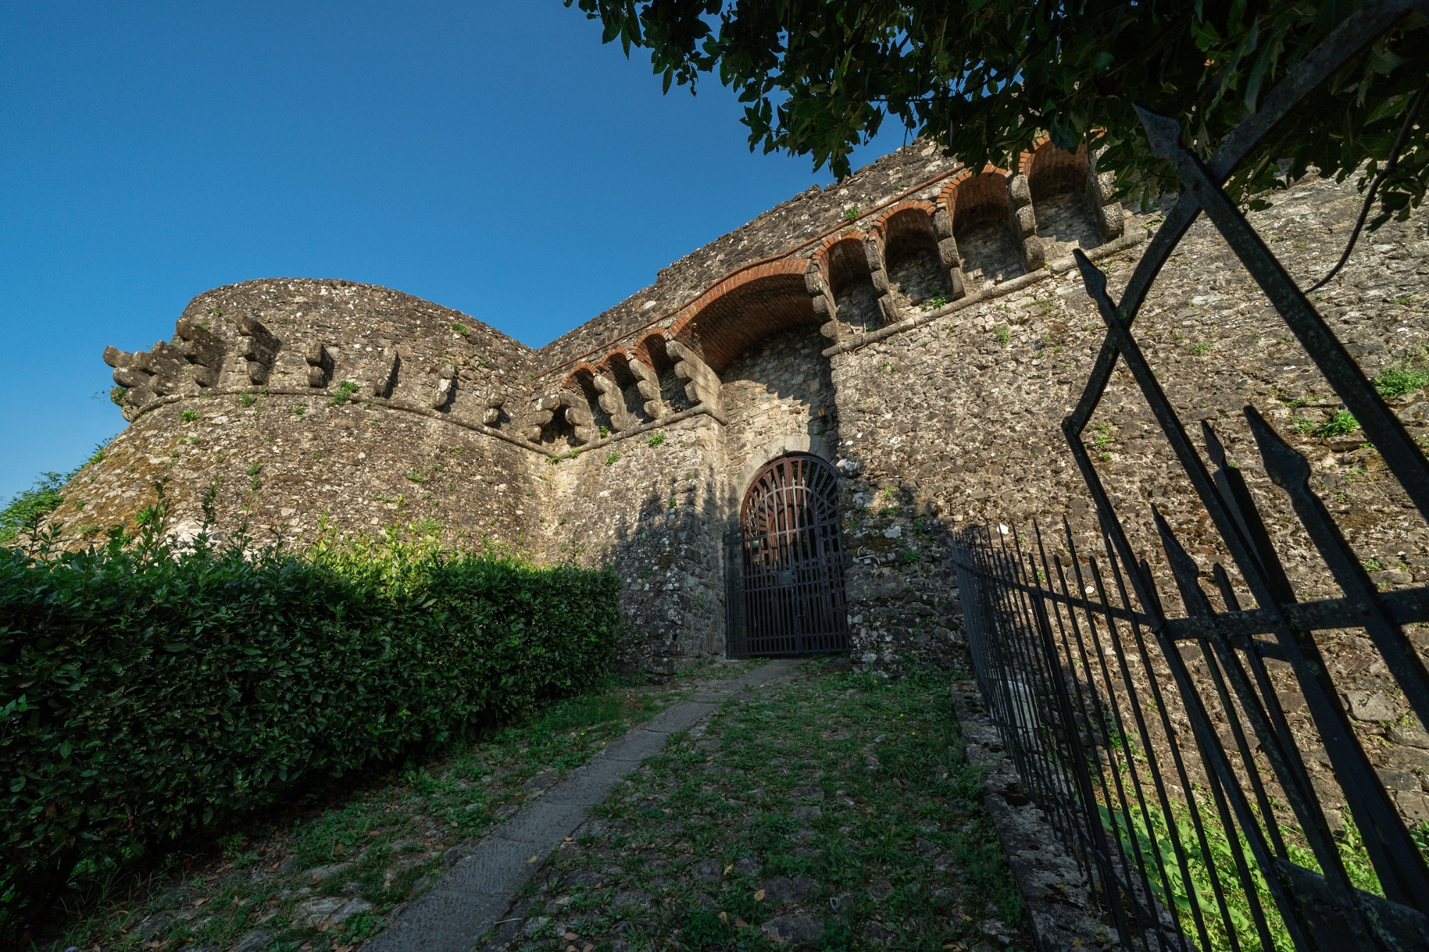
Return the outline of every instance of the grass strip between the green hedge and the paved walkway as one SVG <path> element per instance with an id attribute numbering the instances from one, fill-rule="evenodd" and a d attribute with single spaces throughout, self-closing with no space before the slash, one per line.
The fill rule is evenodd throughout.
<path id="1" fill-rule="evenodd" d="M 141 875 L 96 883 L 59 933 L 33 948 L 226 949 L 254 931 L 274 933 L 266 952 L 352 946 L 422 893 L 447 851 L 490 830 L 683 689 L 613 679 L 450 756 L 334 782 L 307 803 L 170 852 Z M 324 896 L 367 908 L 326 929 L 297 922 L 302 903 Z"/>

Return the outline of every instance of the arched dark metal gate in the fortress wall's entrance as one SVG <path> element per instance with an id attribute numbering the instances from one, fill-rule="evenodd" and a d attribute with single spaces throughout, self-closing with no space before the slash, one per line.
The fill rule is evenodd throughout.
<path id="1" fill-rule="evenodd" d="M 755 476 L 729 545 L 729 656 L 849 649 L 837 476 L 782 456 Z"/>

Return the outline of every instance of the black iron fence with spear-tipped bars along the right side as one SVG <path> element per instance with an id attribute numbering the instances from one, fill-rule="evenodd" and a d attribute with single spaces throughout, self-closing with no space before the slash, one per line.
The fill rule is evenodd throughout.
<path id="1" fill-rule="evenodd" d="M 1429 516 L 1429 465 L 1222 183 L 1305 96 L 1425 0 L 1355 10 L 1202 163 L 1175 120 L 1142 113 L 1183 184 L 1120 302 L 1076 252 L 1106 322 L 1092 377 L 1063 422 L 1096 505 L 1103 552 L 1036 526 L 972 532 L 955 546 L 979 685 L 1029 788 L 1093 879 L 1127 948 L 1429 949 L 1429 865 L 1376 776 L 1315 640 L 1358 629 L 1409 709 L 1429 725 L 1429 672 L 1405 635 L 1429 622 L 1429 587 L 1379 592 L 1309 486 L 1309 463 L 1253 409 L 1266 473 L 1289 495 L 1342 596 L 1299 602 L 1240 472 L 1215 430 L 1192 443 L 1132 324 L 1186 229 L 1205 213 L 1300 340 L 1412 503 Z M 1422 27 L 1422 20 L 1410 21 Z M 1425 89 L 1429 89 L 1426 84 Z M 1425 91 L 1415 97 L 1415 110 Z M 1412 129 L 1410 110 L 1399 143 Z M 1399 146 L 1396 146 L 1398 149 Z M 1356 230 L 1358 233 L 1358 230 Z M 1117 360 L 1147 400 L 1253 608 L 1225 566 L 1202 587 L 1196 560 L 1156 513 L 1183 616 L 1167 618 L 1082 435 Z M 1205 456 L 1202 455 L 1202 450 Z M 1209 460 L 1209 465 L 1208 465 Z M 1212 472 L 1215 469 L 1215 472 Z M 1019 535 L 1023 533 L 1023 535 Z M 1293 673 L 1308 723 L 1292 730 L 1268 662 Z M 1313 735 L 1313 736 L 1308 736 Z M 1326 816 L 1306 756 L 1328 760 L 1348 815 Z M 1325 783 L 1323 773 L 1318 782 Z"/>

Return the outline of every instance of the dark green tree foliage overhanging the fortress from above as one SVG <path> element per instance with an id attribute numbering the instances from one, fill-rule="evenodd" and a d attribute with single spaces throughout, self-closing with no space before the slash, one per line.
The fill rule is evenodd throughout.
<path id="1" fill-rule="evenodd" d="M 1176 117 L 1205 159 L 1265 93 L 1356 9 L 1350 0 L 566 0 L 604 41 L 650 51 L 693 91 L 717 74 L 745 103 L 750 149 L 812 156 L 849 174 L 849 153 L 893 117 L 972 167 L 1006 167 L 1046 132 L 1105 149 L 1122 194 L 1177 192 L 1133 103 Z M 1309 166 L 1349 176 L 1383 160 L 1429 71 L 1429 29 L 1410 16 L 1270 134 L 1230 183 L 1243 196 Z M 1388 212 L 1429 179 L 1419 123 Z M 1288 174 L 1286 174 L 1288 173 Z"/>

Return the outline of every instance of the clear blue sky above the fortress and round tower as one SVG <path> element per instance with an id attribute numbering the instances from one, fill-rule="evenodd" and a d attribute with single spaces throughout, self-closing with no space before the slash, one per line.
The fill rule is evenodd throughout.
<path id="1" fill-rule="evenodd" d="M 560 0 L 0 4 L 0 502 L 123 429 L 104 344 L 219 284 L 370 282 L 546 343 L 830 182 L 740 114 Z"/>

